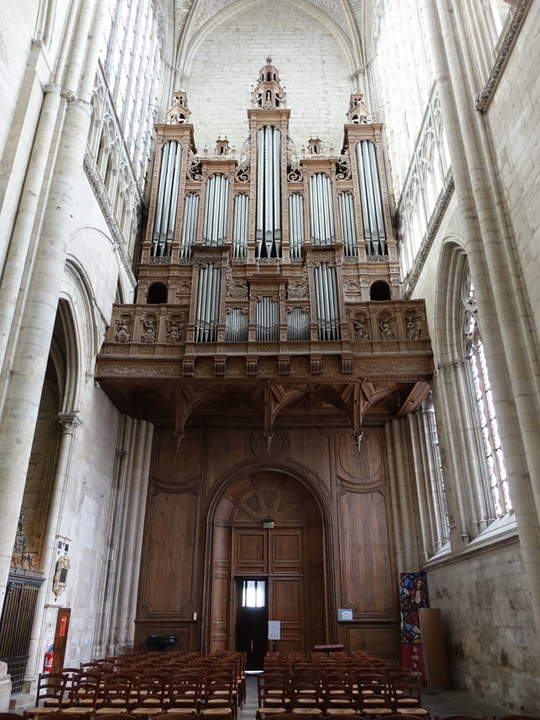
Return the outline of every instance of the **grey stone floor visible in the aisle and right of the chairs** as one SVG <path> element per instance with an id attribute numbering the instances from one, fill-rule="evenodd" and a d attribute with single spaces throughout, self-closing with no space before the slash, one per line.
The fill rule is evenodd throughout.
<path id="1" fill-rule="evenodd" d="M 510 710 L 476 698 L 462 690 L 437 689 L 433 693 L 424 690 L 422 705 L 431 717 L 446 715 L 477 715 L 492 720 L 493 716 L 509 715 Z M 255 675 L 247 678 L 247 701 L 238 713 L 238 720 L 254 720 L 257 710 L 257 680 Z"/>

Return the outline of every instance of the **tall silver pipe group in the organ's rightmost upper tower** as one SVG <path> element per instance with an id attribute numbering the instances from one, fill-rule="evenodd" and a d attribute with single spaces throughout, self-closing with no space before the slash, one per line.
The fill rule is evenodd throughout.
<path id="1" fill-rule="evenodd" d="M 386 254 L 386 233 L 382 215 L 382 195 L 377 170 L 375 145 L 369 140 L 356 143 L 356 166 L 358 168 L 364 240 L 368 255 Z"/>

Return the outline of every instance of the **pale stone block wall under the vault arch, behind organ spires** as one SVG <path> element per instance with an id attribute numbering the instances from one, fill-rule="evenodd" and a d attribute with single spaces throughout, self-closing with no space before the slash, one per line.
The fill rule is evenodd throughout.
<path id="1" fill-rule="evenodd" d="M 346 48 L 296 5 L 269 0 L 228 16 L 194 52 L 186 91 L 199 153 L 207 145 L 213 154 L 220 134 L 239 152 L 248 136 L 251 86 L 268 55 L 287 91 L 290 135 L 299 152 L 310 135 L 320 137 L 326 153 L 341 150 L 353 90 Z"/>

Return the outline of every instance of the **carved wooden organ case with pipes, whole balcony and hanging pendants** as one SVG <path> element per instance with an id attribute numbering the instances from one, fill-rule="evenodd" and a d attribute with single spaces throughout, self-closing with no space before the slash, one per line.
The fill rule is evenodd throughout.
<path id="1" fill-rule="evenodd" d="M 382 125 L 353 94 L 341 154 L 311 138 L 299 157 L 271 58 L 251 105 L 239 158 L 227 140 L 198 155 L 174 94 L 136 304 L 114 306 L 96 376 L 130 414 L 173 417 L 179 438 L 220 382 L 257 388 L 269 442 L 289 390 L 331 387 L 360 438 L 369 408 L 410 412 L 433 373 L 423 302 L 398 299 Z"/>

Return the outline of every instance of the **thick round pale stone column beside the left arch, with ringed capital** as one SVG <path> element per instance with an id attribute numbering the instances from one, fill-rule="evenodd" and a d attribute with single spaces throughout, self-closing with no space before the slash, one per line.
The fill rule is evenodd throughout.
<path id="1" fill-rule="evenodd" d="M 66 116 L 60 132 L 55 171 L 37 240 L 27 303 L 14 348 L 9 388 L 0 421 L 0 523 L 3 528 L 0 539 L 0 603 L 4 601 L 13 539 L 24 495 L 69 233 L 76 225 L 73 222 L 77 212 L 73 204 L 73 187 L 82 173 L 91 112 L 88 78 L 91 76 L 93 79 L 96 73 L 106 4 L 106 0 L 89 0 L 81 4 L 68 71 L 72 84 L 63 93 L 66 96 Z M 85 66 L 82 65 L 83 58 Z M 71 91 L 78 86 L 77 77 L 86 82 L 86 94 L 78 99 L 73 98 Z"/>

